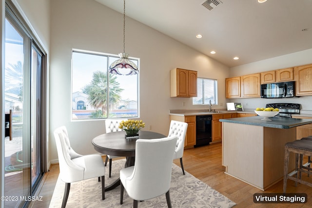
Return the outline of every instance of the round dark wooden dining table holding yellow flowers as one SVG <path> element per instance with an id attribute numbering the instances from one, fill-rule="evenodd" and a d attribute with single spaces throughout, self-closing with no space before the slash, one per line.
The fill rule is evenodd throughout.
<path id="1" fill-rule="evenodd" d="M 110 132 L 98 135 L 92 140 L 94 149 L 102 154 L 126 157 L 125 168 L 134 166 L 137 139 L 159 139 L 167 137 L 161 133 L 139 131 L 138 138 L 125 138 L 125 132 Z M 105 191 L 115 189 L 120 185 L 118 178 L 113 184 L 105 187 Z"/>

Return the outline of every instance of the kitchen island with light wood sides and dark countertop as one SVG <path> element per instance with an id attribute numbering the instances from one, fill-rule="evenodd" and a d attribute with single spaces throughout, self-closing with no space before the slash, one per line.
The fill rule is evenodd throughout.
<path id="1" fill-rule="evenodd" d="M 284 175 L 285 143 L 296 139 L 297 126 L 312 119 L 261 116 L 220 119 L 222 122 L 222 165 L 225 172 L 258 189 L 265 190 Z M 294 169 L 290 155 L 289 172 Z"/>

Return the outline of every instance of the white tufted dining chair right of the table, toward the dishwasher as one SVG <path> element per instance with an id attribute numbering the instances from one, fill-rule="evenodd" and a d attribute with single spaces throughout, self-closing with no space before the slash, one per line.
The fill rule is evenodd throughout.
<path id="1" fill-rule="evenodd" d="M 170 122 L 170 129 L 169 129 L 169 134 L 168 134 L 168 136 L 177 136 L 174 159 L 180 158 L 181 169 L 184 175 L 185 175 L 185 172 L 183 168 L 182 157 L 183 157 L 183 151 L 184 151 L 184 141 L 185 141 L 187 126 L 188 124 L 185 122 L 172 120 Z"/>

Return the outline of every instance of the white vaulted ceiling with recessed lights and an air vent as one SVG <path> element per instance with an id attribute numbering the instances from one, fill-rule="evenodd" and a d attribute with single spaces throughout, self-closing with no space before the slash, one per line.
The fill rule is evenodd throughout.
<path id="1" fill-rule="evenodd" d="M 312 48 L 312 0 L 126 0 L 126 16 L 229 67 Z"/>

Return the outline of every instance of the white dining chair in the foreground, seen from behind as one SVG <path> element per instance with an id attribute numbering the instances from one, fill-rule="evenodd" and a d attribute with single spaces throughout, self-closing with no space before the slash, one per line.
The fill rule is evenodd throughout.
<path id="1" fill-rule="evenodd" d="M 169 189 L 176 140 L 176 136 L 137 140 L 135 165 L 120 170 L 120 204 L 125 189 L 134 200 L 134 208 L 137 208 L 138 201 L 152 199 L 164 193 L 168 208 L 171 208 Z"/>

